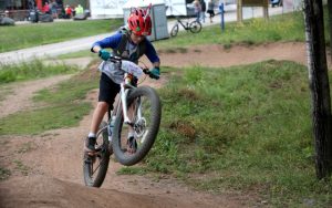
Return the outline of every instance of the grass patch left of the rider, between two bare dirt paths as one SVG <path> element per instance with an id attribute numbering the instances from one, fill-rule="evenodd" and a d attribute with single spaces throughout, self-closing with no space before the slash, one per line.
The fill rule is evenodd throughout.
<path id="1" fill-rule="evenodd" d="M 97 72 L 85 71 L 55 87 L 40 91 L 34 101 L 43 107 L 0 118 L 0 135 L 39 134 L 49 129 L 79 125 L 91 111 L 86 92 L 97 87 Z"/>

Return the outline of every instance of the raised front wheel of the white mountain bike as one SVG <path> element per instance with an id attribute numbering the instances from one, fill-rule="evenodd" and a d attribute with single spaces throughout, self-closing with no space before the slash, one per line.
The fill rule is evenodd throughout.
<path id="1" fill-rule="evenodd" d="M 133 90 L 127 101 L 127 116 L 132 123 L 124 124 L 123 112 L 117 112 L 112 145 L 118 163 L 131 166 L 141 162 L 152 148 L 159 129 L 162 106 L 159 96 L 148 86 Z"/>

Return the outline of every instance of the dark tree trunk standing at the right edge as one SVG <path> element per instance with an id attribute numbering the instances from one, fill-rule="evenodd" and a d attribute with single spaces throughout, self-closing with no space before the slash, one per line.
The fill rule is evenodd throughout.
<path id="1" fill-rule="evenodd" d="M 332 116 L 325 53 L 322 0 L 304 0 L 309 84 L 312 96 L 312 122 L 315 170 L 319 179 L 332 171 Z"/>

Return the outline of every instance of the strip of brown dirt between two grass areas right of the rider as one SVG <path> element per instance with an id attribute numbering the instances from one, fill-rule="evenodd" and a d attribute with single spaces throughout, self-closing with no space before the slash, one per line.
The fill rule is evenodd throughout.
<path id="1" fill-rule="evenodd" d="M 307 64 L 305 44 L 302 42 L 277 42 L 260 45 L 232 45 L 225 49 L 220 44 L 197 45 L 185 51 L 160 51 L 162 65 L 184 67 L 204 65 L 226 67 L 250 64 L 264 60 L 290 60 Z"/>

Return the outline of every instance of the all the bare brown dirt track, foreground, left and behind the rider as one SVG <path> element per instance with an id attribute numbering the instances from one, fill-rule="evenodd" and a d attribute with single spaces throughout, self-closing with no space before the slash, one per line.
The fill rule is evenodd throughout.
<path id="1" fill-rule="evenodd" d="M 291 60 L 305 64 L 303 43 L 272 43 L 259 46 L 220 45 L 191 48 L 187 53 L 160 53 L 163 65 L 191 64 L 228 66 L 268 59 Z M 52 86 L 69 76 L 20 83 L 14 95 L 1 101 L 0 117 L 31 107 L 31 96 L 38 90 Z M 152 81 L 156 87 L 166 80 Z M 95 102 L 97 91 L 87 95 Z M 79 127 L 49 131 L 34 136 L 0 136 L 0 167 L 11 176 L 0 184 L 3 207 L 248 207 L 255 199 L 236 194 L 210 195 L 190 190 L 168 177 L 121 176 L 121 165 L 111 162 L 102 189 L 86 188 L 82 178 L 82 145 L 92 115 Z M 250 204 L 251 204 L 250 202 Z M 255 206 L 261 206 L 253 201 Z"/>

